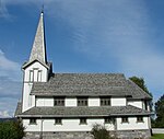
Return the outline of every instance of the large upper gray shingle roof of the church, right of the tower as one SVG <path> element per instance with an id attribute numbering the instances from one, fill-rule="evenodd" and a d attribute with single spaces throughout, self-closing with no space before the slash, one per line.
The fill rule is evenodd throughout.
<path id="1" fill-rule="evenodd" d="M 121 73 L 55 73 L 48 82 L 35 82 L 31 94 L 45 96 L 131 96 L 151 99 Z"/>

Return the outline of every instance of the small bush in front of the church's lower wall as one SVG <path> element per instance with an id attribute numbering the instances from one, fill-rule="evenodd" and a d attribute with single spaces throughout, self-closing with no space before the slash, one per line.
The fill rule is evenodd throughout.
<path id="1" fill-rule="evenodd" d="M 94 139 L 113 139 L 105 126 L 98 124 L 93 126 L 91 134 L 94 136 Z"/>

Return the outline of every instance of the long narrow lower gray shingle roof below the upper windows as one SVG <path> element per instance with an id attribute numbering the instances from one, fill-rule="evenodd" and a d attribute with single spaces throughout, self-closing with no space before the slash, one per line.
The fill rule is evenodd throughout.
<path id="1" fill-rule="evenodd" d="M 94 106 L 94 107 L 33 107 L 20 117 L 98 117 L 124 115 L 150 115 L 150 112 L 134 106 Z"/>

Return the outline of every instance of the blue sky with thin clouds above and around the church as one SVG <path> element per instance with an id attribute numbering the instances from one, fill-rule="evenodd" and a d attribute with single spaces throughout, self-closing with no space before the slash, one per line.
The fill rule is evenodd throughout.
<path id="1" fill-rule="evenodd" d="M 0 0 L 0 117 L 21 99 L 43 3 L 54 72 L 121 72 L 164 93 L 163 0 Z"/>

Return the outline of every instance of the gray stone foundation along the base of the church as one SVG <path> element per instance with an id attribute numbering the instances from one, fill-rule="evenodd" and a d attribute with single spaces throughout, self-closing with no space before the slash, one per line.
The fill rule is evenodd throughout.
<path id="1" fill-rule="evenodd" d="M 118 130 L 110 131 L 114 139 L 150 139 L 150 130 Z M 93 139 L 90 132 L 26 132 L 24 139 Z"/>

